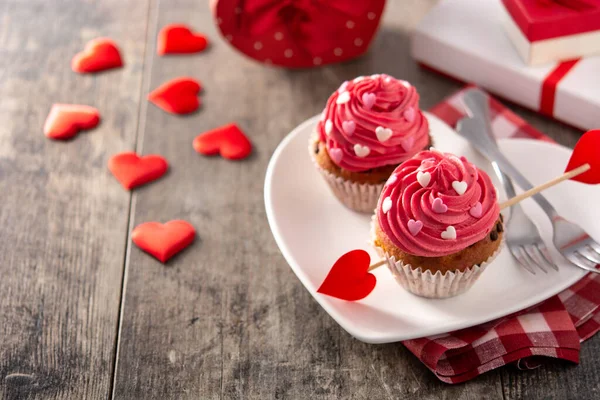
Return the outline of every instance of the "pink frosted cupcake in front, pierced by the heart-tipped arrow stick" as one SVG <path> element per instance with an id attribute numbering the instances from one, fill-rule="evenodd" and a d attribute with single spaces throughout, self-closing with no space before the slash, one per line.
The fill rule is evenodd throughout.
<path id="1" fill-rule="evenodd" d="M 396 280 L 426 297 L 473 285 L 500 249 L 504 228 L 489 176 L 464 157 L 423 151 L 383 188 L 373 243 Z"/>

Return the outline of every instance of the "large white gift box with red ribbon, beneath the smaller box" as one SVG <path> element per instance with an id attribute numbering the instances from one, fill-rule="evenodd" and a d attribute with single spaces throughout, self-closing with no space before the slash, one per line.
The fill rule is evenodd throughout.
<path id="1" fill-rule="evenodd" d="M 420 63 L 577 128 L 600 128 L 600 57 L 527 66 L 503 28 L 500 0 L 444 0 L 417 26 Z"/>

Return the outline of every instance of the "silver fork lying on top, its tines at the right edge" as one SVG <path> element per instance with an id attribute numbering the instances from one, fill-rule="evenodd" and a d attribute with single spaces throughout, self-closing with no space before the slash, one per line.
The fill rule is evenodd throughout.
<path id="1" fill-rule="evenodd" d="M 478 89 L 469 89 L 463 100 L 472 113 L 470 118 L 461 121 L 463 135 L 468 135 L 466 137 L 469 138 L 471 144 L 489 160 L 496 163 L 502 171 L 510 175 L 523 190 L 531 189 L 533 185 L 498 149 L 491 132 L 487 94 Z M 532 196 L 532 198 L 550 218 L 554 230 L 554 246 L 563 257 L 579 268 L 600 273 L 600 270 L 595 268 L 600 263 L 600 244 L 592 239 L 579 225 L 561 217 L 541 193 Z"/>

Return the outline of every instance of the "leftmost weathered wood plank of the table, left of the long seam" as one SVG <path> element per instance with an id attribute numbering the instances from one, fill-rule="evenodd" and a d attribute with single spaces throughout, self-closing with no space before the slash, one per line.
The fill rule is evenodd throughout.
<path id="1" fill-rule="evenodd" d="M 132 148 L 148 1 L 0 1 L 0 398 L 110 391 L 130 195 L 106 169 Z M 114 37 L 121 71 L 78 76 L 71 57 Z M 54 102 L 100 109 L 69 143 L 42 133 Z"/>

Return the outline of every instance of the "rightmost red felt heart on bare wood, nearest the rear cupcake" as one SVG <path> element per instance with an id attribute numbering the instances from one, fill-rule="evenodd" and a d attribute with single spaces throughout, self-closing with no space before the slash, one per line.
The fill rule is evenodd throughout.
<path id="1" fill-rule="evenodd" d="M 241 160 L 252 152 L 252 143 L 244 132 L 232 123 L 201 133 L 194 139 L 194 149 L 206 156 L 220 153 L 221 157 Z"/>

